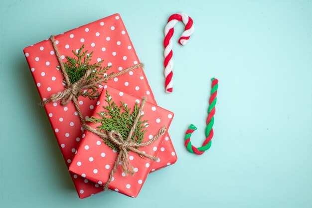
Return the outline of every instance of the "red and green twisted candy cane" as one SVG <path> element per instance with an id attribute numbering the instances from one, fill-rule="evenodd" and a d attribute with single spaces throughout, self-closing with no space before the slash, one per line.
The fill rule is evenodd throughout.
<path id="1" fill-rule="evenodd" d="M 212 83 L 211 83 L 211 95 L 209 98 L 209 107 L 208 107 L 208 117 L 206 121 L 206 131 L 205 131 L 205 136 L 206 139 L 203 142 L 202 146 L 199 148 L 196 148 L 192 145 L 191 143 L 191 135 L 192 133 L 197 129 L 193 124 L 189 126 L 187 131 L 185 132 L 185 138 L 184 138 L 184 144 L 186 149 L 194 154 L 201 155 L 203 154 L 206 150 L 208 150 L 211 146 L 211 139 L 213 137 L 213 123 L 214 123 L 214 114 L 216 112 L 216 102 L 217 102 L 217 92 L 218 92 L 218 80 L 215 78 L 212 78 Z"/>

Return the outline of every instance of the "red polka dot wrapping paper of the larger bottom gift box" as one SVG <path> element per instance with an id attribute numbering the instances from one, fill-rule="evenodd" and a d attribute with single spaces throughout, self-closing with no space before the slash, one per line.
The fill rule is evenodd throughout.
<path id="1" fill-rule="evenodd" d="M 64 63 L 68 61 L 67 57 L 74 57 L 74 52 L 78 53 L 83 45 L 84 50 L 88 50 L 86 57 L 92 53 L 90 64 L 100 63 L 102 67 L 109 67 L 105 73 L 102 73 L 102 76 L 122 72 L 140 62 L 119 14 L 80 26 L 56 35 L 54 38 L 60 58 Z M 42 101 L 66 89 L 64 76 L 59 67 L 60 63 L 50 39 L 24 48 L 24 54 Z M 150 103 L 156 105 L 153 92 L 141 67 L 108 80 L 107 83 L 98 84 L 95 89 L 98 94 L 101 94 L 108 85 L 136 97 L 146 96 Z M 81 92 L 84 95 L 86 93 Z M 90 118 L 96 106 L 100 105 L 96 97 L 90 99 L 88 96 L 81 95 L 77 97 L 77 100 L 85 119 Z M 82 140 L 83 128 L 79 113 L 72 101 L 66 105 L 62 105 L 61 100 L 49 102 L 44 105 L 44 108 L 65 163 L 69 167 Z M 159 160 L 151 165 L 151 172 L 173 164 L 177 160 L 167 132 L 164 135 L 164 142 L 158 149 L 160 150 L 157 156 Z M 98 184 L 83 177 L 71 173 L 71 178 L 79 198 L 103 191 Z"/>

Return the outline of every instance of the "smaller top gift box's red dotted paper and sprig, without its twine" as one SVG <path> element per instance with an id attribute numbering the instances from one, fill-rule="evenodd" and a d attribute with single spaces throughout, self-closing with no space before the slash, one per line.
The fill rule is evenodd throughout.
<path id="1" fill-rule="evenodd" d="M 125 136 L 123 136 L 123 140 L 125 140 L 129 134 L 129 128 L 131 128 L 133 124 L 123 121 L 120 115 L 123 115 L 126 110 L 122 109 L 121 112 L 119 112 L 118 108 L 125 105 L 127 108 L 135 109 L 136 103 L 138 103 L 138 108 L 141 103 L 143 104 L 142 98 L 124 93 L 112 87 L 107 87 L 106 90 L 105 93 L 104 91 L 102 92 L 99 98 L 101 104 L 95 107 L 92 117 L 89 119 L 91 122 L 87 125 L 93 128 L 94 131 L 106 131 L 107 134 L 111 129 L 117 129 L 121 134 L 125 131 Z M 117 107 L 113 107 L 114 105 L 111 104 L 112 102 L 114 102 Z M 113 112 L 109 114 L 110 111 Z M 142 143 L 151 141 L 162 127 L 168 129 L 173 116 L 172 112 L 148 101 L 144 104 L 142 112 L 137 111 L 137 114 L 141 115 L 141 126 L 144 127 L 138 130 L 138 132 L 145 131 L 142 136 Z M 103 119 L 103 117 L 105 119 Z M 135 116 L 132 114 L 131 117 Z M 116 122 L 122 122 L 122 124 L 116 124 Z M 110 128 L 109 126 L 111 123 L 114 124 Z M 125 125 L 128 126 L 125 127 Z M 138 126 L 140 126 L 140 124 Z M 126 128 L 128 128 L 128 131 Z M 117 163 L 116 160 L 118 155 L 121 154 L 121 148 L 112 147 L 112 143 L 107 144 L 107 141 L 103 139 L 103 137 L 89 130 L 83 132 L 82 138 L 84 139 L 80 142 L 77 154 L 74 156 L 69 170 L 103 187 L 107 183 L 115 163 Z M 157 154 L 161 152 L 160 148 L 164 138 L 163 132 L 153 143 L 144 147 L 138 147 L 138 150 L 156 157 Z M 133 175 L 126 174 L 122 166 L 118 165 L 115 173 L 112 174 L 108 188 L 130 197 L 137 197 L 149 172 L 152 170 L 153 163 L 157 162 L 140 156 L 138 153 L 131 150 L 127 152 L 126 157 L 133 168 L 131 169 L 134 171 Z M 80 191 L 83 192 L 83 190 Z"/>

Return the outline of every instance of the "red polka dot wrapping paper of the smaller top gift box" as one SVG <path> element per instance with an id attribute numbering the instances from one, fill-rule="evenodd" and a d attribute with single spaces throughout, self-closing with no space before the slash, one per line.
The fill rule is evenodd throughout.
<path id="1" fill-rule="evenodd" d="M 112 87 L 107 87 L 106 90 L 111 96 L 112 101 L 114 101 L 118 107 L 122 106 L 120 103 L 120 101 L 122 101 L 127 104 L 128 108 L 132 109 L 130 112 L 133 111 L 136 102 L 139 103 L 139 106 L 142 103 L 142 98 L 140 97 L 135 97 Z M 103 106 L 108 105 L 105 101 L 107 97 L 106 92 L 104 91 L 99 98 L 101 104 L 96 106 L 92 114 L 92 116 L 97 119 L 102 118 L 99 114 L 102 113 L 104 115 L 104 112 L 108 112 L 103 108 Z M 143 142 L 150 141 L 158 133 L 161 127 L 164 126 L 168 129 L 173 118 L 172 112 L 148 101 L 144 105 L 142 114 L 143 117 L 141 121 L 148 120 L 146 122 L 148 124 L 147 127 L 143 129 L 147 130 L 144 134 Z M 99 130 L 97 127 L 101 126 L 102 123 L 94 124 L 90 122 L 88 125 Z M 143 125 L 145 125 L 145 123 Z M 108 181 L 119 152 L 109 147 L 104 143 L 104 140 L 101 137 L 90 131 L 84 131 L 82 137 L 84 139 L 79 145 L 77 154 L 74 156 L 69 170 L 89 181 L 103 186 Z M 164 137 L 164 134 L 160 135 L 154 143 L 145 147 L 139 147 L 139 151 L 144 151 L 146 154 L 156 157 L 157 154 L 161 152 L 160 146 Z M 114 180 L 111 181 L 108 188 L 135 198 L 138 196 L 149 172 L 152 170 L 152 164 L 157 163 L 157 161 L 154 162 L 151 159 L 140 157 L 137 153 L 132 151 L 129 151 L 128 154 L 129 162 L 134 167 L 136 173 L 133 176 L 126 176 L 121 166 L 118 165 L 118 168 L 113 175 Z"/>

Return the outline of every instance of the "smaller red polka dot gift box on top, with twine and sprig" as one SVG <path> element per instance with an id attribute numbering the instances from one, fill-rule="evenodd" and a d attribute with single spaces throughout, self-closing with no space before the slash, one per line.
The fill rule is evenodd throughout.
<path id="1" fill-rule="evenodd" d="M 149 157 L 158 160 L 156 156 L 160 152 L 163 134 L 173 113 L 112 87 L 102 92 L 99 102 L 88 119 L 91 122 L 86 124 L 89 129 L 83 133 L 84 139 L 69 170 L 104 186 L 104 189 L 137 197 L 152 169 L 154 161 Z M 134 128 L 137 116 L 140 119 Z M 134 133 L 129 133 L 131 128 Z M 116 143 L 109 140 L 110 132 L 115 132 L 114 140 L 119 139 Z M 120 138 L 116 138 L 116 132 L 120 133 Z M 129 135 L 134 142 L 131 147 L 126 142 Z M 145 146 L 146 142 L 151 144 Z"/>

